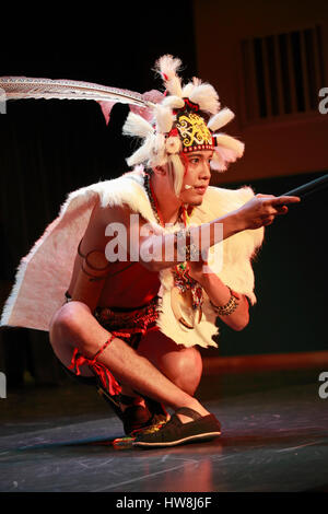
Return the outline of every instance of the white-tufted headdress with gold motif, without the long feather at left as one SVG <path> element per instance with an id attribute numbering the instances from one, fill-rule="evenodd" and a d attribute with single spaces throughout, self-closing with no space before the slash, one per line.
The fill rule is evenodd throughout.
<path id="1" fill-rule="evenodd" d="M 154 106 L 152 119 L 129 114 L 124 133 L 141 138 L 142 144 L 127 162 L 130 166 L 156 166 L 174 162 L 181 152 L 212 150 L 211 167 L 224 172 L 244 153 L 244 143 L 218 132 L 234 114 L 229 108 L 221 109 L 212 85 L 196 78 L 183 85 L 177 73 L 180 65 L 169 55 L 157 60 L 155 69 L 163 79 L 165 95 Z"/>

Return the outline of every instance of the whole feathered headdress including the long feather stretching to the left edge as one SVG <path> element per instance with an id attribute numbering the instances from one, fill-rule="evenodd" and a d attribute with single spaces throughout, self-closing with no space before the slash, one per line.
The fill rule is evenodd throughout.
<path id="1" fill-rule="evenodd" d="M 5 100 L 61 98 L 93 100 L 99 103 L 106 121 L 116 103 L 130 105 L 124 133 L 142 139 L 141 147 L 129 157 L 129 166 L 156 166 L 172 163 L 174 186 L 179 186 L 185 167 L 180 153 L 213 150 L 212 170 L 224 172 L 244 153 L 244 143 L 218 132 L 234 118 L 229 108 L 221 109 L 218 93 L 208 83 L 194 79 L 183 85 L 178 75 L 181 61 L 169 55 L 161 57 L 155 70 L 161 74 L 165 93 L 151 91 L 139 94 L 72 80 L 1 77 L 0 91 Z"/>

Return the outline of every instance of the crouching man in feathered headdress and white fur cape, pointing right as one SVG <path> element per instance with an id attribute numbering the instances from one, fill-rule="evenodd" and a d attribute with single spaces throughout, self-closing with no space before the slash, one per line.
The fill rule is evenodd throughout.
<path id="1" fill-rule="evenodd" d="M 23 259 L 1 320 L 49 330 L 68 373 L 96 385 L 141 447 L 220 435 L 194 396 L 197 347 L 216 346 L 218 316 L 247 325 L 263 226 L 300 201 L 209 186 L 244 144 L 219 132 L 234 115 L 215 90 L 183 85 L 179 66 L 162 57 L 165 94 L 127 118 L 124 133 L 143 140 L 133 171 L 68 197 Z"/>

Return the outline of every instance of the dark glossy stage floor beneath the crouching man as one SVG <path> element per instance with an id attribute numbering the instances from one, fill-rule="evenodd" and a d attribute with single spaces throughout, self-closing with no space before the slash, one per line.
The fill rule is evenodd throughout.
<path id="1" fill-rule="evenodd" d="M 321 371 L 204 377 L 197 396 L 222 436 L 148 451 L 110 444 L 120 422 L 86 386 L 9 392 L 0 400 L 0 491 L 328 491 Z"/>

